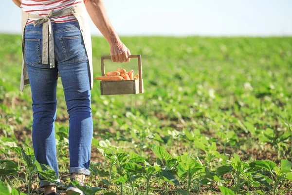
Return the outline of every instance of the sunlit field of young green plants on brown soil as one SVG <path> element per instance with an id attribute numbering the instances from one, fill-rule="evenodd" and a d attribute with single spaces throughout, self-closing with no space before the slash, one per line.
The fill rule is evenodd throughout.
<path id="1" fill-rule="evenodd" d="M 121 39 L 142 55 L 145 93 L 100 96 L 94 80 L 87 195 L 292 194 L 292 38 Z M 33 158 L 30 87 L 19 91 L 21 37 L 0 35 L 0 45 L 0 191 L 38 195 L 36 173 L 54 173 Z M 98 77 L 110 47 L 97 37 L 92 47 Z M 137 59 L 105 65 L 138 72 Z M 60 79 L 57 94 L 65 195 L 69 117 Z"/>

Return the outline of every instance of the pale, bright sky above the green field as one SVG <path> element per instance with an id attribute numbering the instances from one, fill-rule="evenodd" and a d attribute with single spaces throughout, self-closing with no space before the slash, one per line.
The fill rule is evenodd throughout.
<path id="1" fill-rule="evenodd" d="M 120 36 L 292 36 L 292 0 L 104 0 L 104 3 Z M 12 0 L 0 0 L 0 5 L 4 8 L 0 12 L 0 33 L 20 34 L 20 8 Z M 91 35 L 101 36 L 91 20 L 90 24 Z"/>

